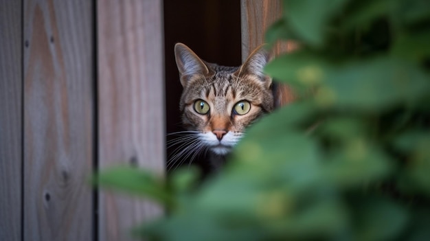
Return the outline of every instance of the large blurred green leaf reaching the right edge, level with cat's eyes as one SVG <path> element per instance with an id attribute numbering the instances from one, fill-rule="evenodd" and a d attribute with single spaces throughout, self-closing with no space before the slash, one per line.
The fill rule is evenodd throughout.
<path id="1" fill-rule="evenodd" d="M 396 104 L 414 105 L 430 91 L 427 73 L 408 62 L 381 57 L 330 71 L 315 96 L 341 108 L 381 111 Z M 330 103 L 329 103 L 330 104 Z"/>

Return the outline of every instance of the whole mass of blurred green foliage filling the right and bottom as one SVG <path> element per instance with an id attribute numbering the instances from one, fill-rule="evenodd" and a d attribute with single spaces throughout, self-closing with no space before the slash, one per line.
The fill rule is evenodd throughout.
<path id="1" fill-rule="evenodd" d="M 158 200 L 148 240 L 430 240 L 430 1 L 288 0 L 266 71 L 302 97 L 251 126 L 216 177 L 102 172 Z"/>

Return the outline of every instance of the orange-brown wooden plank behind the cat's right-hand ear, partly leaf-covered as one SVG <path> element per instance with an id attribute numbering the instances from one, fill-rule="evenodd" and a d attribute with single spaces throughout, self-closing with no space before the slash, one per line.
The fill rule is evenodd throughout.
<path id="1" fill-rule="evenodd" d="M 281 0 L 240 0 L 240 15 L 242 20 L 242 61 L 253 49 L 264 43 L 264 32 L 282 16 Z M 275 54 L 293 51 L 297 43 L 292 41 L 280 42 L 273 47 Z M 277 103 L 280 106 L 292 102 L 295 98 L 293 91 L 286 85 L 278 85 Z"/>

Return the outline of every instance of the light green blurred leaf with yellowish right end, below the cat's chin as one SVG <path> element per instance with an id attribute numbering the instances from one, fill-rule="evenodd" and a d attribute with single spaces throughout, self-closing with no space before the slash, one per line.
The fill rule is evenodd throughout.
<path id="1" fill-rule="evenodd" d="M 271 178 L 265 174 L 227 174 L 202 190 L 193 207 L 205 209 L 225 222 L 250 224 L 280 218 L 291 201 L 279 186 L 270 185 Z"/>

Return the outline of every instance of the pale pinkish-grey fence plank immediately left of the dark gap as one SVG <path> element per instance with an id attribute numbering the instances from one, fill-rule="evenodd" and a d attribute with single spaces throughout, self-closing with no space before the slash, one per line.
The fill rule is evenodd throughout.
<path id="1" fill-rule="evenodd" d="M 161 0 L 99 1 L 100 168 L 130 163 L 164 170 Z M 150 203 L 100 194 L 100 239 L 130 240 L 129 230 L 160 214 Z"/>

